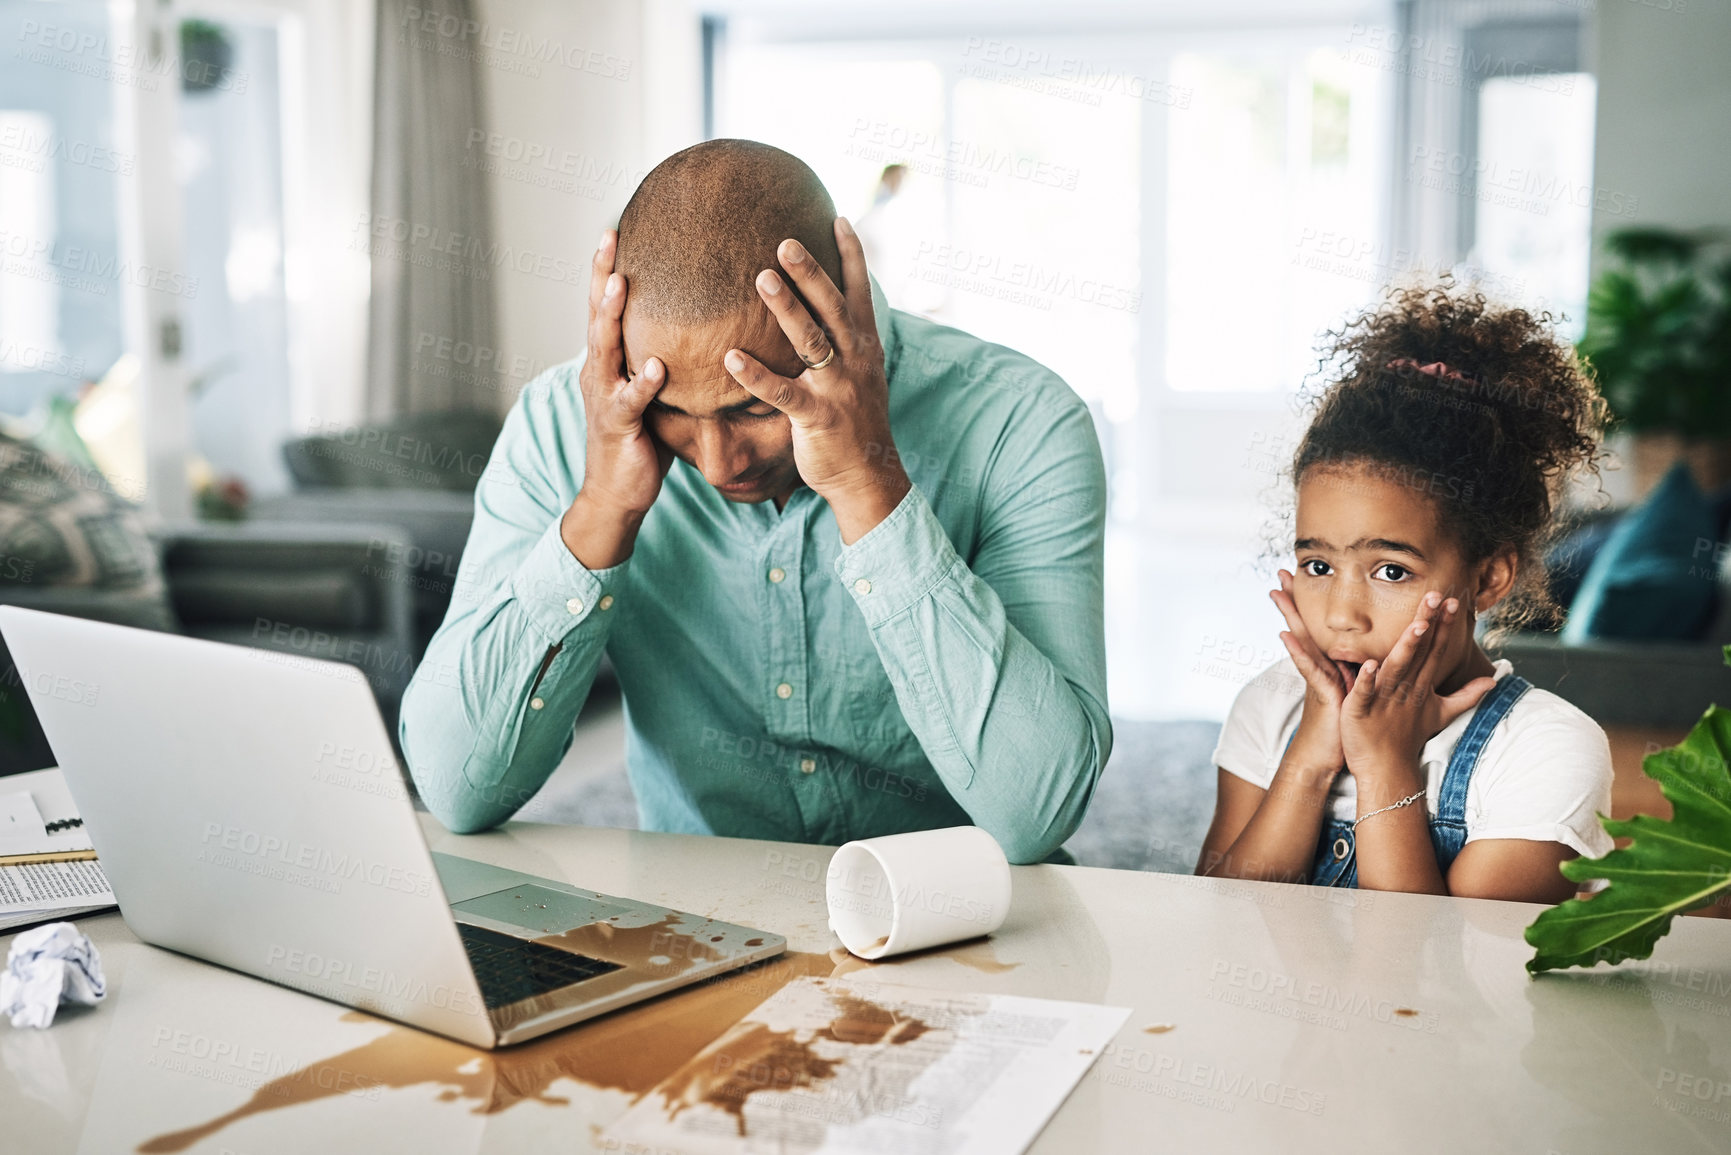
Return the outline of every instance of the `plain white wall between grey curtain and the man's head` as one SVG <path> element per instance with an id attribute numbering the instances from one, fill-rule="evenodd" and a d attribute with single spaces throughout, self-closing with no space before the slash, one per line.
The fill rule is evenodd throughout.
<path id="1" fill-rule="evenodd" d="M 516 255 L 495 268 L 504 410 L 535 372 L 582 350 L 595 239 L 656 161 L 701 139 L 701 36 L 682 0 L 476 7 L 499 33 L 557 42 L 566 57 L 483 52 L 492 135 L 466 159 L 488 171 L 493 239 Z"/>

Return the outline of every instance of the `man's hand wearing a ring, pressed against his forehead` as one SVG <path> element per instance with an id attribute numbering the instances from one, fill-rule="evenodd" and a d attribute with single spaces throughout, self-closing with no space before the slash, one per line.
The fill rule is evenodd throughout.
<path id="1" fill-rule="evenodd" d="M 756 279 L 758 296 L 808 365 L 805 372 L 784 377 L 739 348 L 724 364 L 746 391 L 788 414 L 800 476 L 829 502 L 841 544 L 852 545 L 890 516 L 911 481 L 890 436 L 890 383 L 866 251 L 846 218 L 838 216 L 834 229 L 846 293 L 791 239 L 775 256 L 805 303 L 774 268 Z"/>

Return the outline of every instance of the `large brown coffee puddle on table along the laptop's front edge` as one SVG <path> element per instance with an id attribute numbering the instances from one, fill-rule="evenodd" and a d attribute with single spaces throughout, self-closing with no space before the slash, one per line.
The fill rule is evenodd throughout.
<path id="1" fill-rule="evenodd" d="M 642 1098 L 789 982 L 826 978 L 841 970 L 827 954 L 788 951 L 500 1051 L 479 1051 L 362 1011 L 348 1011 L 343 1022 L 377 1022 L 389 1030 L 350 1051 L 272 1079 L 232 1112 L 185 1131 L 159 1134 L 137 1150 L 147 1155 L 183 1152 L 242 1119 L 374 1087 L 441 1087 L 440 1101 L 473 1103 L 476 1115 L 493 1115 L 524 1100 L 564 1107 L 569 1100 L 549 1094 L 557 1079 Z"/>

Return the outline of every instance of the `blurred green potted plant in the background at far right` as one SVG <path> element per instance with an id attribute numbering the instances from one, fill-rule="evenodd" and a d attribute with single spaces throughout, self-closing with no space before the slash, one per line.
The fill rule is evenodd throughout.
<path id="1" fill-rule="evenodd" d="M 1622 429 L 1636 495 L 1677 461 L 1712 488 L 1731 481 L 1731 256 L 1724 237 L 1618 229 L 1587 294 L 1580 352 Z"/>

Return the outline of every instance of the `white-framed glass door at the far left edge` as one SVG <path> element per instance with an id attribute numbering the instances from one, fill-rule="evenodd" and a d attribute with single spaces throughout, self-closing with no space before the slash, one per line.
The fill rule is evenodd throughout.
<path id="1" fill-rule="evenodd" d="M 121 495 L 187 516 L 166 5 L 0 0 L 0 416 L 54 421 Z"/>

